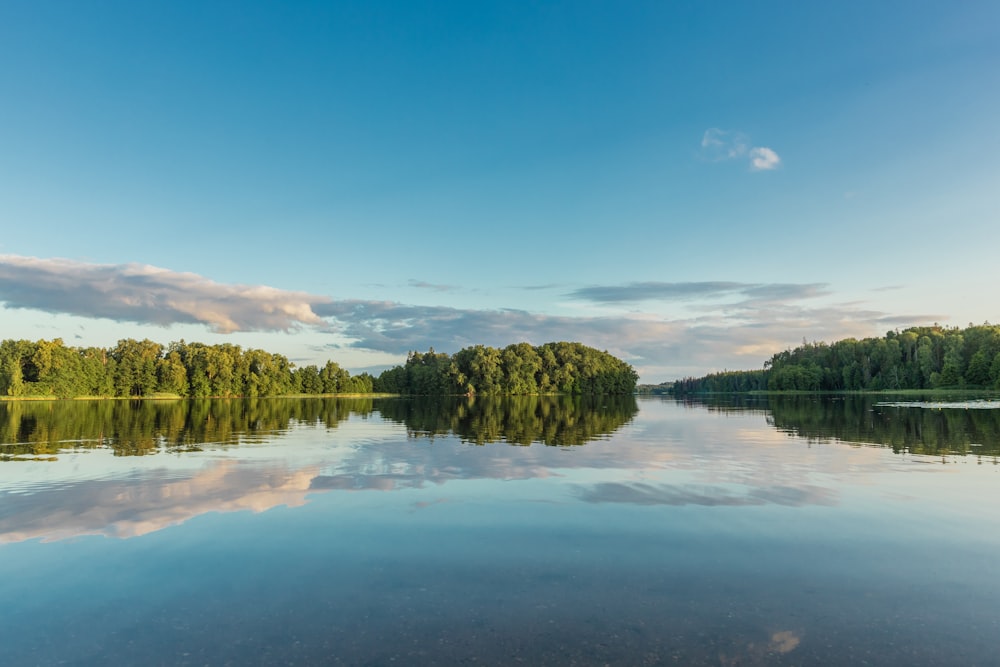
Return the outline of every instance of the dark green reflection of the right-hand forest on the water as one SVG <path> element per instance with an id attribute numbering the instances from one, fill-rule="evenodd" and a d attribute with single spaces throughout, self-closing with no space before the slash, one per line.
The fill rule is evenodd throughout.
<path id="1" fill-rule="evenodd" d="M 880 405 L 885 400 L 883 395 L 720 395 L 682 403 L 718 412 L 759 412 L 779 431 L 809 440 L 932 456 L 1000 455 L 1000 409 Z"/>

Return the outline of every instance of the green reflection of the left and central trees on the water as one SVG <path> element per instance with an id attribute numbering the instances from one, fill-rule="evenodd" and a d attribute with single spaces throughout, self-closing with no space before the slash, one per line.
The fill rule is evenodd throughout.
<path id="1" fill-rule="evenodd" d="M 352 414 L 404 424 L 411 437 L 457 435 L 474 444 L 582 445 L 638 412 L 633 396 L 505 398 L 256 398 L 175 401 L 0 402 L 0 460 L 71 449 L 116 456 L 260 442 L 295 423 L 336 428 Z"/>

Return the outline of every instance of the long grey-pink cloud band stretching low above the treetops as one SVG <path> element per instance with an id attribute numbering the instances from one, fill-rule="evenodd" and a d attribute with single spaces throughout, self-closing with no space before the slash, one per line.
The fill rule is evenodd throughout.
<path id="1" fill-rule="evenodd" d="M 162 326 L 195 323 L 221 333 L 300 327 L 321 336 L 335 332 L 325 352 L 346 347 L 402 355 L 430 347 L 454 352 L 476 344 L 579 341 L 626 359 L 647 381 L 760 367 L 771 354 L 802 338 L 867 336 L 881 333 L 873 326 L 947 319 L 885 313 L 856 303 L 822 305 L 813 299 L 829 296 L 823 283 L 642 282 L 593 285 L 569 296 L 610 305 L 686 300 L 692 314 L 678 319 L 652 313 L 560 316 L 510 308 L 334 300 L 273 287 L 221 284 L 139 264 L 0 255 L 0 302 L 6 308 Z"/>

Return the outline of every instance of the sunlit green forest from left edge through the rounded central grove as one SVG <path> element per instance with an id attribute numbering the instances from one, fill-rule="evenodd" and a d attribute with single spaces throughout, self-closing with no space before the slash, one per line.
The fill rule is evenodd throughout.
<path id="1" fill-rule="evenodd" d="M 113 348 L 54 340 L 0 342 L 0 396 L 73 398 L 288 396 L 295 394 L 622 394 L 631 366 L 580 343 L 477 345 L 453 356 L 412 352 L 378 377 L 333 361 L 296 367 L 287 357 L 228 343 L 123 339 Z"/>

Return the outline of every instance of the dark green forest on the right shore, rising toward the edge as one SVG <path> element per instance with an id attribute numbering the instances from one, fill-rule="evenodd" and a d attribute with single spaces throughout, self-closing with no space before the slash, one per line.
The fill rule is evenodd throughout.
<path id="1" fill-rule="evenodd" d="M 1000 326 L 913 327 L 882 338 L 803 343 L 762 370 L 674 383 L 674 393 L 1000 389 Z"/>

